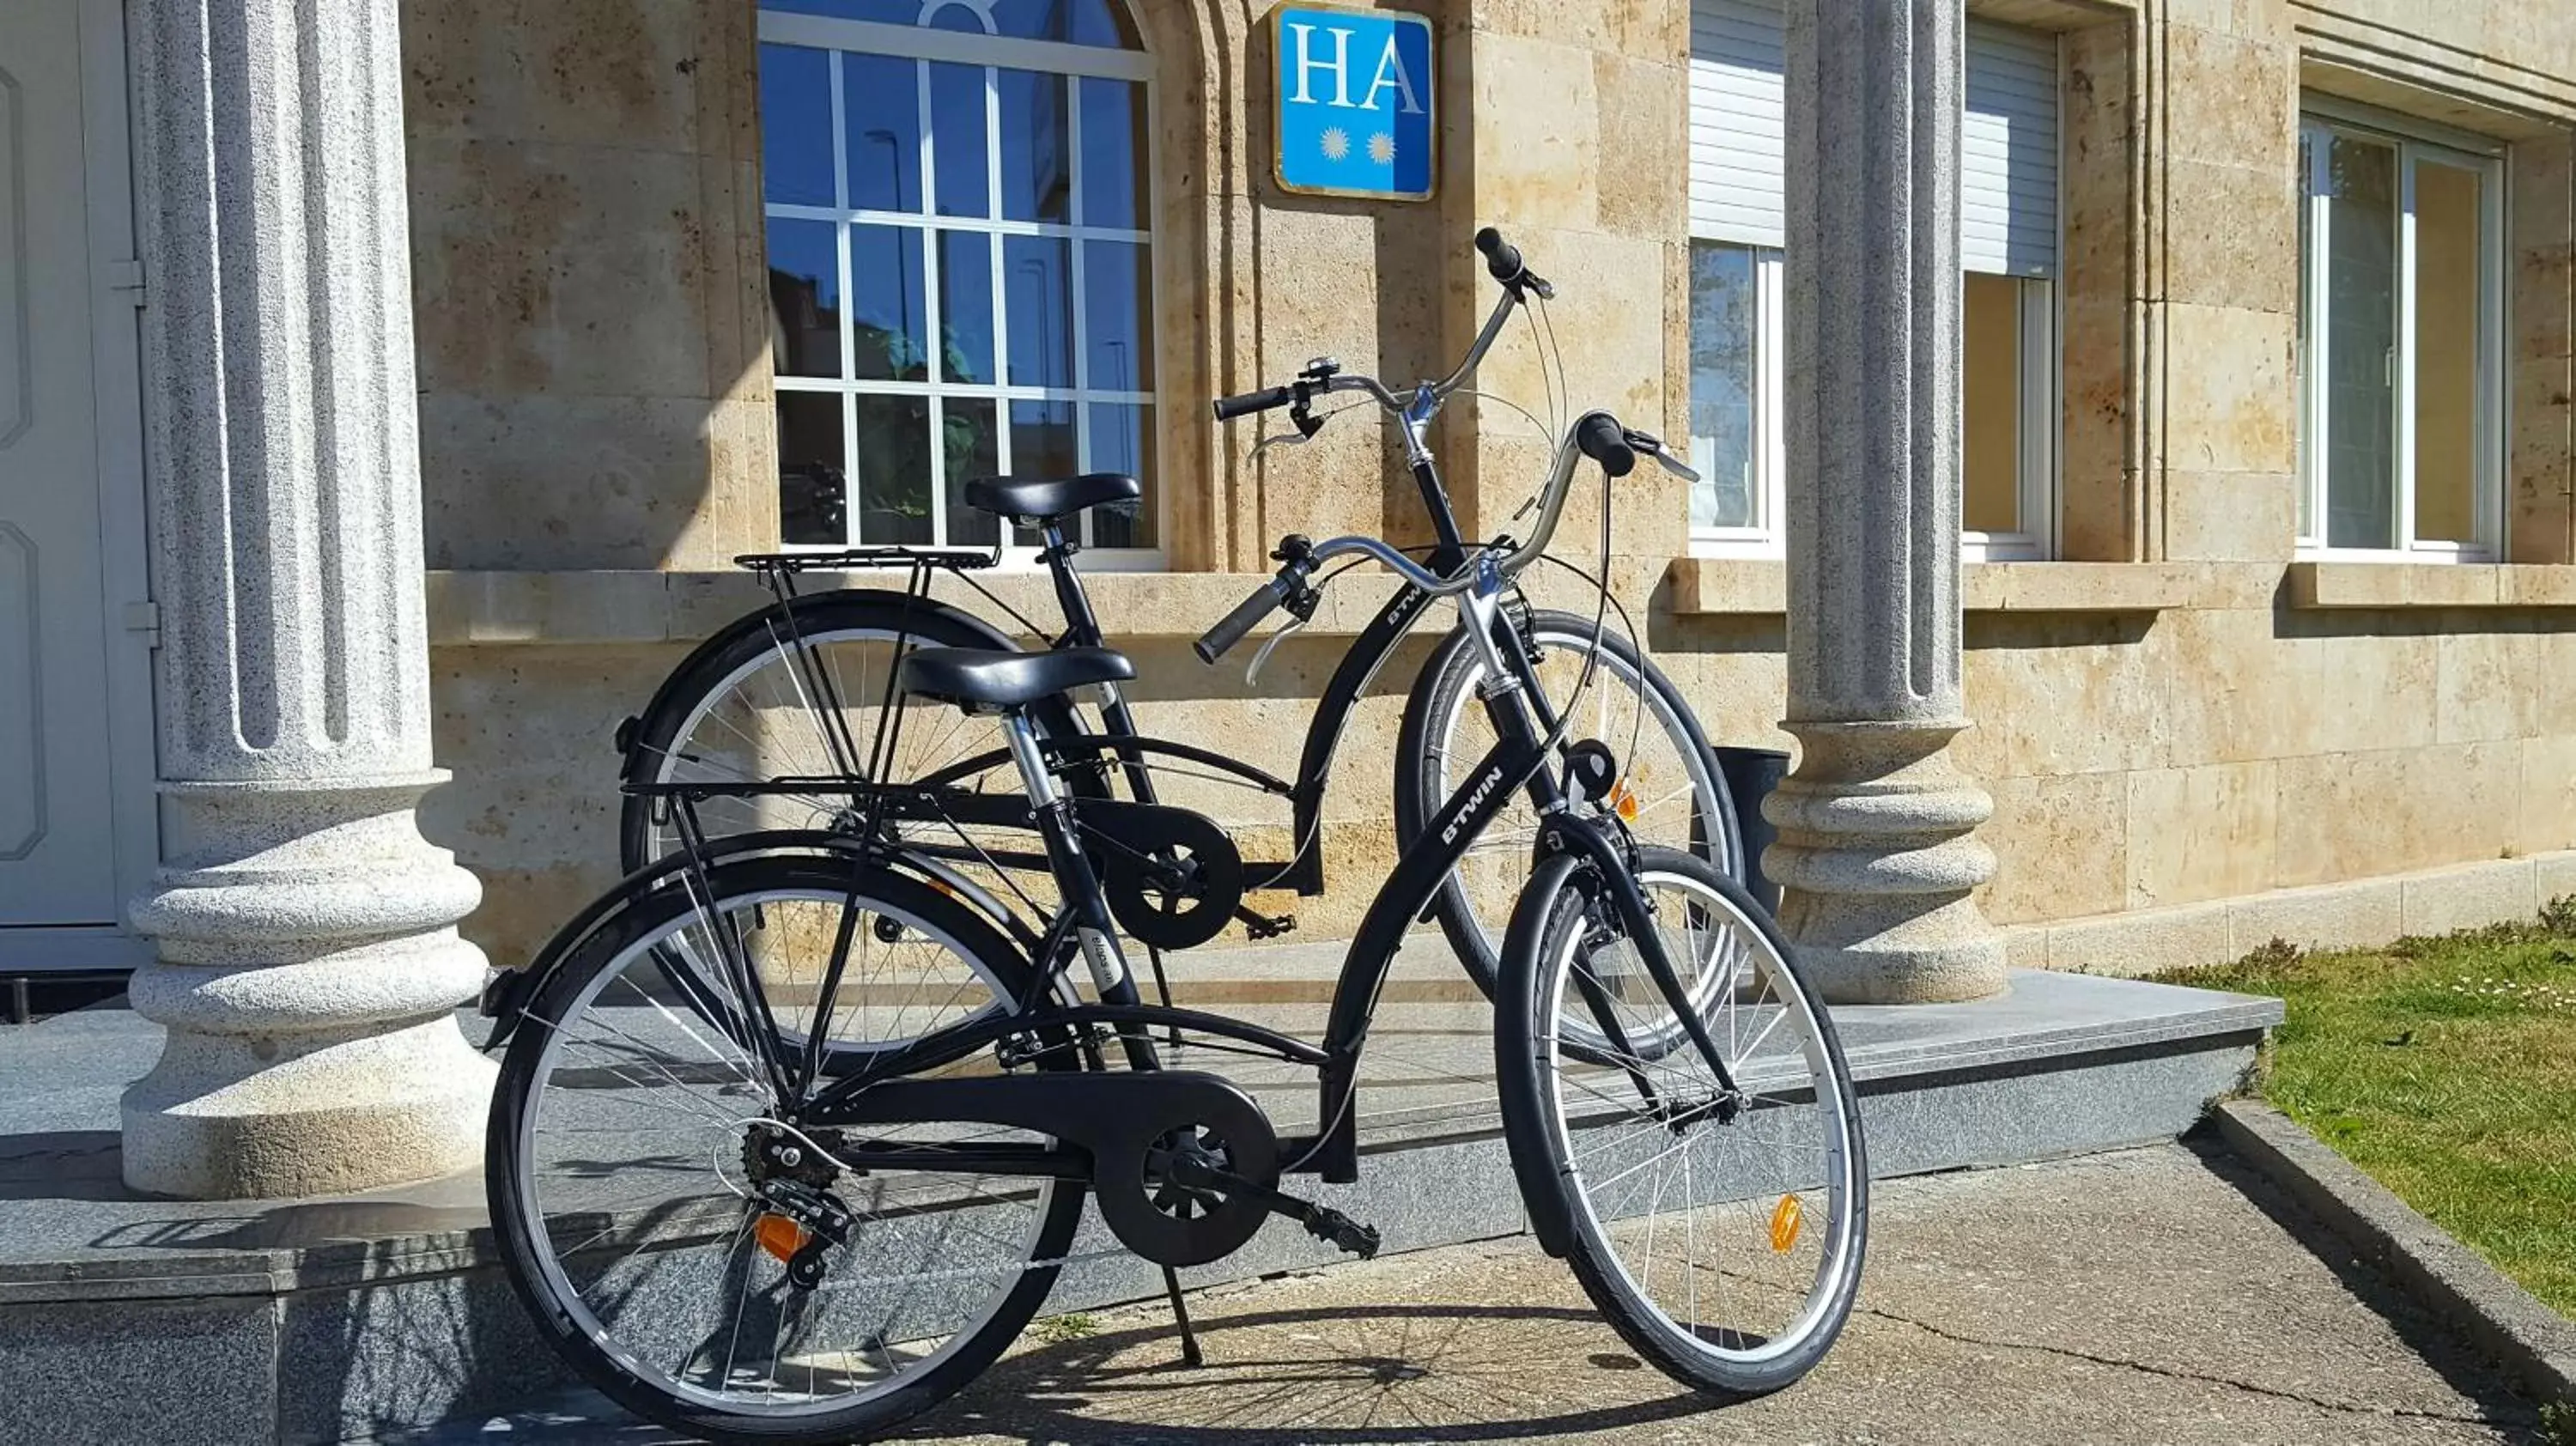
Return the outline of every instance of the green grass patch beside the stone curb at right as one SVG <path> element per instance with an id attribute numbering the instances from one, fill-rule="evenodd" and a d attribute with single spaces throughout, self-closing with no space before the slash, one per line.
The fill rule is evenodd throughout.
<path id="1" fill-rule="evenodd" d="M 2169 979 L 2280 995 L 2262 1095 L 2576 1315 L 2576 900 L 2375 951 L 2275 941 Z"/>

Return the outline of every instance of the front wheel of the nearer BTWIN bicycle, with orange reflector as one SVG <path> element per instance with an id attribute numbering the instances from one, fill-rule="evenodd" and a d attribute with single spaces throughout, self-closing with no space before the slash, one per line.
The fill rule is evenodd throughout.
<path id="1" fill-rule="evenodd" d="M 1698 1389 L 1775 1392 L 1824 1358 L 1860 1291 L 1860 1103 L 1824 1003 L 1741 884 L 1664 848 L 1636 882 L 1643 925 L 1566 856 L 1522 894 L 1497 1021 L 1504 1132 L 1533 1214 L 1561 1222 L 1628 1345 Z M 1677 1028 L 1643 928 L 1703 1031 Z"/>

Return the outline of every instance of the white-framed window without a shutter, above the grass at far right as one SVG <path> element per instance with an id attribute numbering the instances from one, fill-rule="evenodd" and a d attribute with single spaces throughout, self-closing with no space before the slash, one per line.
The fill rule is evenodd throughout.
<path id="1" fill-rule="evenodd" d="M 2308 101 L 2298 170 L 2300 549 L 2496 557 L 2501 149 Z"/>

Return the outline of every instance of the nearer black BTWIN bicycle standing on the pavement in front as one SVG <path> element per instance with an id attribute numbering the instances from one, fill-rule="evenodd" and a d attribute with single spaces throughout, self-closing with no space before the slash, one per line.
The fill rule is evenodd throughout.
<path id="1" fill-rule="evenodd" d="M 1458 603 L 1494 680 L 1497 740 L 1370 902 L 1321 1041 L 1141 1000 L 1113 900 L 1154 858 L 1118 838 L 1167 804 L 1077 794 L 1069 778 L 1095 763 L 1036 724 L 1077 688 L 1131 680 L 1118 652 L 904 655 L 914 696 L 1002 732 L 1007 796 L 639 784 L 667 807 L 677 853 L 497 998 L 492 1222 L 546 1338 L 672 1428 L 850 1441 L 971 1382 L 1069 1266 L 1139 1255 L 1170 1281 L 1270 1217 L 1376 1253 L 1376 1229 L 1283 1183 L 1358 1178 L 1360 1059 L 1396 949 L 1528 791 L 1535 871 L 1499 951 L 1494 1062 L 1533 1232 L 1638 1353 L 1692 1387 L 1754 1394 L 1811 1369 L 1852 1309 L 1868 1235 L 1832 1018 L 1734 879 L 1631 835 L 1610 750 L 1566 747 L 1589 680 L 1546 722 L 1512 657 L 1510 583 L 1553 536 L 1579 459 L 1605 477 L 1607 546 L 1607 479 L 1638 451 L 1659 443 L 1587 412 L 1556 448 L 1528 544 L 1481 549 L 1453 577 L 1378 539 L 1283 546 L 1278 577 L 1203 639 L 1221 655 L 1329 585 L 1321 567 L 1376 559 Z M 827 789 L 855 827 L 714 840 L 698 825 L 708 802 Z M 997 897 L 912 843 L 943 820 L 963 838 L 1012 817 L 1059 902 Z M 1164 882 L 1224 905 L 1224 833 L 1208 848 L 1211 869 Z M 1314 1070 L 1316 1129 L 1283 1134 L 1231 1080 L 1167 1067 L 1172 1031 L 1193 1052 Z M 1077 1237 L 1084 1196 L 1105 1240 Z"/>

